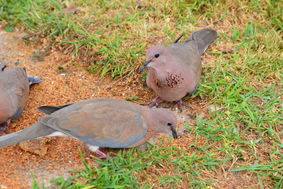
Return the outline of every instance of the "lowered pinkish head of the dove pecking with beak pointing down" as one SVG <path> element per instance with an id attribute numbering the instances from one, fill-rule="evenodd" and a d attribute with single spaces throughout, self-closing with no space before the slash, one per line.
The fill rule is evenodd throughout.
<path id="1" fill-rule="evenodd" d="M 148 111 L 148 124 L 154 133 L 171 133 L 177 139 L 177 118 L 175 114 L 164 108 L 155 108 Z"/>

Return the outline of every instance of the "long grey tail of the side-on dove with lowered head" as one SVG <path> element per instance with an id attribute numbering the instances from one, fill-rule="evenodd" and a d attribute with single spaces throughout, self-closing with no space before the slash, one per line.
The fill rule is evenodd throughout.
<path id="1" fill-rule="evenodd" d="M 0 147 L 48 136 L 55 131 L 55 129 L 52 129 L 40 122 L 36 122 L 35 124 L 20 131 L 1 136 Z"/>

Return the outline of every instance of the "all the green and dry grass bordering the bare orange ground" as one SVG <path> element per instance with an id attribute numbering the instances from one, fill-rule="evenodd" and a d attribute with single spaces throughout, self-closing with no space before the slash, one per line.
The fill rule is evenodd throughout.
<path id="1" fill-rule="evenodd" d="M 122 150 L 113 160 L 94 158 L 97 167 L 83 160 L 85 166 L 72 171 L 71 179 L 53 179 L 58 188 L 176 188 L 182 183 L 188 188 L 217 188 L 217 178 L 205 173 L 213 175 L 222 167 L 231 174 L 256 175 L 262 188 L 282 188 L 283 1 L 69 4 L 83 7 L 63 14 L 65 1 L 2 0 L 0 22 L 6 31 L 25 27 L 43 35 L 51 45 L 86 57 L 88 72 L 101 77 L 111 72 L 113 78 L 131 77 L 145 60 L 147 48 L 199 29 L 201 20 L 219 35 L 203 58 L 198 90 L 186 97 L 200 96 L 209 105 L 207 117 L 197 116 L 195 124 L 186 125 L 192 143 L 176 147 L 163 140 L 156 147 L 147 145 L 146 152 Z M 224 52 L 226 47 L 233 52 Z M 164 167 L 168 173 L 160 171 Z"/>

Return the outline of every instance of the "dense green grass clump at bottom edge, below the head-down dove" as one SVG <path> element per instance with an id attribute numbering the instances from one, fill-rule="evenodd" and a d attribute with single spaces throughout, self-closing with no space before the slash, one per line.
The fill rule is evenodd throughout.
<path id="1" fill-rule="evenodd" d="M 136 179 L 133 172 L 140 172 L 142 169 L 147 169 L 148 163 L 151 160 L 142 162 L 141 158 L 132 158 L 132 150 L 128 153 L 120 151 L 114 160 L 100 160 L 95 158 L 95 161 L 99 163 L 98 167 L 91 167 L 85 162 L 82 152 L 81 157 L 83 161 L 83 169 L 76 171 L 75 175 L 68 179 L 63 180 L 62 177 L 53 180 L 64 188 L 69 186 L 81 187 L 97 187 L 97 188 L 138 188 L 139 179 Z M 77 181 L 80 180 L 80 181 Z"/>

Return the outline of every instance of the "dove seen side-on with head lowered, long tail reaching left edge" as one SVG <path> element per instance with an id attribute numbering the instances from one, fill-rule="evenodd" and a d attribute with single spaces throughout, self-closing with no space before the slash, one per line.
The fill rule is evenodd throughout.
<path id="1" fill-rule="evenodd" d="M 156 133 L 172 133 L 177 139 L 176 116 L 167 109 L 149 109 L 112 98 L 96 98 L 62 106 L 40 106 L 48 114 L 20 131 L 1 136 L 0 147 L 46 136 L 74 137 L 89 149 L 107 157 L 99 146 L 132 148 Z"/>

